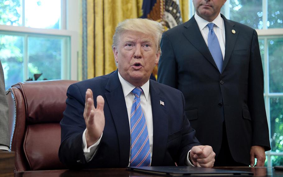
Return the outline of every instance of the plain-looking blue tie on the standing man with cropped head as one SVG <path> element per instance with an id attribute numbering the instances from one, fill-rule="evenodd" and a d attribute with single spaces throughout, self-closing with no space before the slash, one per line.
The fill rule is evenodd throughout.
<path id="1" fill-rule="evenodd" d="M 219 72 L 222 73 L 223 56 L 219 45 L 219 41 L 217 39 L 215 32 L 213 31 L 214 23 L 208 23 L 207 26 L 209 29 L 208 38 L 207 38 L 208 49 L 217 65 Z"/>

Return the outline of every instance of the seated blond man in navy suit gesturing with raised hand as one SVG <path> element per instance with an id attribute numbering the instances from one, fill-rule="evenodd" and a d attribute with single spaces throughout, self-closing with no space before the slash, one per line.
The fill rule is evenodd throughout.
<path id="1" fill-rule="evenodd" d="M 158 22 L 119 23 L 112 46 L 118 69 L 68 88 L 59 159 L 69 168 L 213 166 L 215 153 L 197 141 L 183 94 L 149 79 L 161 36 Z"/>

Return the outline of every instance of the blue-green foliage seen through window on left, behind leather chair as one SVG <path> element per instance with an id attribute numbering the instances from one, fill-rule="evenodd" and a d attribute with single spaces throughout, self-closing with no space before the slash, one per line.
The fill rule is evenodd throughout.
<path id="1" fill-rule="evenodd" d="M 20 11 L 20 0 L 0 0 L 0 24 L 21 26 Z M 58 26 L 59 21 L 49 28 L 58 29 Z M 6 89 L 39 73 L 43 74 L 38 80 L 60 79 L 61 43 L 63 40 L 60 37 L 28 36 L 28 77 L 23 78 L 24 38 L 25 36 L 21 36 L 19 33 L 15 36 L 0 32 L 0 59 L 4 70 Z"/>

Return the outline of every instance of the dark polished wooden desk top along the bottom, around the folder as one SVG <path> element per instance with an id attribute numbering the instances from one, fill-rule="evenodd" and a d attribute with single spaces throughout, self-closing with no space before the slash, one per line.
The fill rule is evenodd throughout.
<path id="1" fill-rule="evenodd" d="M 274 170 L 273 167 L 217 167 L 223 170 L 239 170 L 239 171 L 251 171 L 254 176 L 268 176 L 268 177 L 282 177 L 283 171 Z M 154 175 L 147 175 L 142 173 L 130 172 L 126 169 L 90 169 L 90 170 L 43 170 L 43 171 L 24 171 L 15 172 L 15 177 L 64 177 L 64 176 L 78 176 L 78 177 L 160 177 Z"/>

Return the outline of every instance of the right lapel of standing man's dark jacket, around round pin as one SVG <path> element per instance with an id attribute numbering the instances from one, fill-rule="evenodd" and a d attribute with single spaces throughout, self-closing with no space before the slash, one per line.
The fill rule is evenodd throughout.
<path id="1" fill-rule="evenodd" d="M 239 29 L 235 27 L 235 24 L 232 21 L 227 20 L 222 14 L 221 17 L 223 18 L 225 26 L 225 56 L 222 66 L 222 71 L 224 71 L 234 50 L 234 46 L 239 35 Z M 235 30 L 236 33 L 232 33 L 232 30 Z"/>

